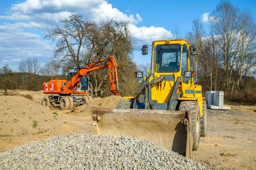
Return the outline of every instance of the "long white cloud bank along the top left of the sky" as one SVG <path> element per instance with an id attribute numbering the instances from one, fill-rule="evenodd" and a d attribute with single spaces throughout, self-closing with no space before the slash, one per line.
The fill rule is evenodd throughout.
<path id="1" fill-rule="evenodd" d="M 8 19 L 23 22 L 32 22 L 33 28 L 46 28 L 48 25 L 55 25 L 58 20 L 63 20 L 70 14 L 80 13 L 89 20 L 106 20 L 115 18 L 128 21 L 132 24 L 142 22 L 139 14 L 127 15 L 117 8 L 113 8 L 105 0 L 26 0 L 23 3 L 15 4 L 9 15 L 2 15 L 0 19 Z M 39 25 L 39 26 L 38 26 Z"/>

